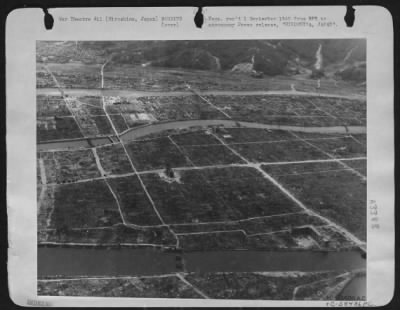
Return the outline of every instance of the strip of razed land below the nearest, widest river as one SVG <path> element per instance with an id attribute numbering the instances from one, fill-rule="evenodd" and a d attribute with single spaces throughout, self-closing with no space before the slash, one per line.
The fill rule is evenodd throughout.
<path id="1" fill-rule="evenodd" d="M 191 272 L 148 277 L 43 279 L 38 283 L 38 294 L 93 297 L 333 300 L 336 298 L 336 294 L 332 294 L 333 288 L 339 288 L 341 283 L 352 277 L 352 273 L 326 271 Z"/>

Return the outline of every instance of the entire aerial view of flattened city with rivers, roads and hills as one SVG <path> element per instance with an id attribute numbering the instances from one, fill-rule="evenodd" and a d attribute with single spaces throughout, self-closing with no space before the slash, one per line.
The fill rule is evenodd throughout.
<path id="1" fill-rule="evenodd" d="M 38 41 L 38 294 L 366 294 L 366 42 Z"/>

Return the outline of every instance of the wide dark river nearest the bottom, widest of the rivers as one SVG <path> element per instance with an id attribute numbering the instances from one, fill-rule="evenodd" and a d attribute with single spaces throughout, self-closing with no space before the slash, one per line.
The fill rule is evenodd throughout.
<path id="1" fill-rule="evenodd" d="M 141 276 L 187 272 L 353 270 L 366 267 L 358 251 L 211 251 L 176 254 L 143 248 L 38 248 L 38 276 Z"/>

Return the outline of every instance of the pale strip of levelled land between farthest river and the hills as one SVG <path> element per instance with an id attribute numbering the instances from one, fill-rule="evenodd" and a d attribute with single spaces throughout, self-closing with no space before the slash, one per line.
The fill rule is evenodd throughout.
<path id="1" fill-rule="evenodd" d="M 46 65 L 55 72 L 57 79 L 67 88 L 100 88 L 100 81 L 96 73 L 100 72 L 101 59 L 98 64 L 84 64 L 82 62 L 56 63 L 47 62 Z M 38 87 L 54 87 L 51 79 L 43 77 L 38 64 Z M 203 70 L 173 69 L 142 67 L 124 64 L 123 66 L 109 64 L 104 70 L 105 88 L 110 89 L 137 89 L 145 91 L 177 91 L 186 90 L 187 85 L 202 91 L 206 90 L 292 90 L 322 93 L 365 93 L 365 87 L 355 83 L 324 78 L 318 88 L 317 79 L 304 79 L 300 76 L 275 76 L 253 78 L 244 74 L 231 72 L 212 72 Z M 46 83 L 48 81 L 48 83 Z"/>

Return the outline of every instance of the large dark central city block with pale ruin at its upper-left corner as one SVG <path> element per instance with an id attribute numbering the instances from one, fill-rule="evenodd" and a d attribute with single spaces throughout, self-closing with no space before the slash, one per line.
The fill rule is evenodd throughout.
<path id="1" fill-rule="evenodd" d="M 157 174 L 142 178 L 167 223 L 227 221 L 299 210 L 250 168 L 184 171 L 173 183 Z"/>

